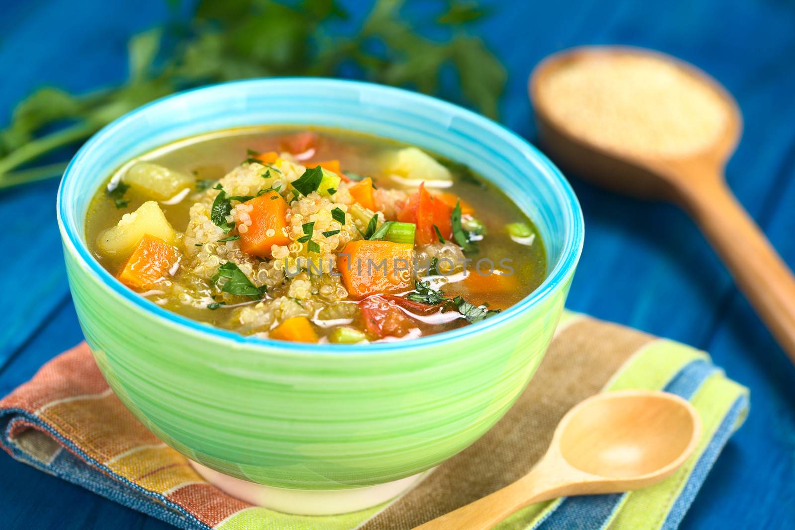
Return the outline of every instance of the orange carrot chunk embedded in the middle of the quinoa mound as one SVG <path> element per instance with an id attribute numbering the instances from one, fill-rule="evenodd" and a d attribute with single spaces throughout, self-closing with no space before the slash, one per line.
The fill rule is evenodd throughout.
<path id="1" fill-rule="evenodd" d="M 248 212 L 251 224 L 247 230 L 243 232 L 238 229 L 240 248 L 243 252 L 259 257 L 271 257 L 273 245 L 290 244 L 286 219 L 288 206 L 277 191 L 266 191 L 244 204 L 249 204 L 254 210 Z"/>

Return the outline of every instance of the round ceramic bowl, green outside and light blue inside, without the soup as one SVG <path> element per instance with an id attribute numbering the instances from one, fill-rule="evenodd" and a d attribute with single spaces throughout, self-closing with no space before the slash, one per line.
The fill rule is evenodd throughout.
<path id="1" fill-rule="evenodd" d="M 406 342 L 316 345 L 236 335 L 165 311 L 87 248 L 91 196 L 118 166 L 238 126 L 339 127 L 468 164 L 537 224 L 549 261 L 519 304 Z M 213 470 L 278 488 L 373 486 L 428 470 L 510 408 L 553 337 L 583 245 L 564 177 L 502 126 L 425 95 L 332 79 L 254 79 L 160 99 L 87 141 L 58 194 L 77 315 L 111 388 L 157 436 Z"/>

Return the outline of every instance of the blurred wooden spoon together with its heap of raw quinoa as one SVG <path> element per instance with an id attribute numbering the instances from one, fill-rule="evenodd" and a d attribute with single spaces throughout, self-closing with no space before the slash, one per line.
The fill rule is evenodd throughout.
<path id="1" fill-rule="evenodd" d="M 642 48 L 549 56 L 529 83 L 545 150 L 614 191 L 679 203 L 795 362 L 795 279 L 723 177 L 742 120 L 714 79 Z"/>

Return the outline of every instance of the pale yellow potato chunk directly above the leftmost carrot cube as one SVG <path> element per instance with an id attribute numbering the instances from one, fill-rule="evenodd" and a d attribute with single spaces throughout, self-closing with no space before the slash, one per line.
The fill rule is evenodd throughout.
<path id="1" fill-rule="evenodd" d="M 132 253 L 145 234 L 161 238 L 169 245 L 177 242 L 176 232 L 153 200 L 123 215 L 116 226 L 103 230 L 97 239 L 97 246 L 107 256 L 124 257 Z"/>

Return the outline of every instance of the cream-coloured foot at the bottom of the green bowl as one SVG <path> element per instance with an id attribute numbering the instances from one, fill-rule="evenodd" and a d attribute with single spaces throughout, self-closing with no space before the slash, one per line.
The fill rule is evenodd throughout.
<path id="1" fill-rule="evenodd" d="M 370 508 L 411 489 L 433 471 L 431 469 L 393 482 L 359 488 L 286 489 L 230 477 L 198 462 L 189 462 L 204 480 L 231 497 L 250 505 L 296 515 L 334 515 Z"/>

